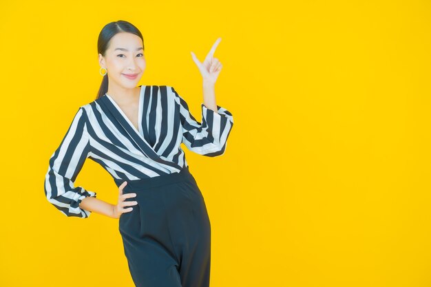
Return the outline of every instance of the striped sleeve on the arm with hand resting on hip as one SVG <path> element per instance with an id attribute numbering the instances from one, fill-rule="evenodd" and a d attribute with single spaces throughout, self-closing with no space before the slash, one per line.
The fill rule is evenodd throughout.
<path id="1" fill-rule="evenodd" d="M 91 211 L 81 209 L 79 204 L 88 196 L 96 197 L 95 192 L 74 186 L 91 150 L 85 119 L 85 110 L 80 107 L 60 146 L 52 153 L 45 176 L 46 198 L 68 217 L 89 217 Z"/>

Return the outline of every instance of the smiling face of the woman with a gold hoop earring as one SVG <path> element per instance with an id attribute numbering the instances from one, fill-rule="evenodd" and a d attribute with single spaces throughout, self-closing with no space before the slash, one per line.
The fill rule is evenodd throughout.
<path id="1" fill-rule="evenodd" d="M 107 69 L 109 85 L 114 83 L 125 88 L 138 85 L 146 66 L 143 41 L 127 32 L 113 36 L 105 56 L 98 54 L 98 59 L 101 67 Z"/>

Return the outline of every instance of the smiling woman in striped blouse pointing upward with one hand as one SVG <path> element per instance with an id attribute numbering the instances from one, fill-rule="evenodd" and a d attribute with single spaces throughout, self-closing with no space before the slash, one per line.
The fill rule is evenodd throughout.
<path id="1" fill-rule="evenodd" d="M 127 21 L 105 25 L 98 37 L 103 82 L 98 97 L 78 108 L 50 158 L 45 195 L 67 216 L 96 212 L 119 219 L 136 286 L 209 286 L 211 225 L 202 193 L 180 144 L 203 156 L 224 153 L 232 114 L 215 104 L 221 63 L 215 41 L 203 63 L 202 123 L 174 87 L 136 86 L 145 70 L 143 36 Z M 102 74 L 102 72 L 101 72 Z M 112 176 L 117 204 L 75 187 L 86 158 Z"/>

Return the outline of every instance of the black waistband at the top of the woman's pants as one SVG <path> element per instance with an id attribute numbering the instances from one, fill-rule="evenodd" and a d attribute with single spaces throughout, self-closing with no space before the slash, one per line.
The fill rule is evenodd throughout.
<path id="1" fill-rule="evenodd" d="M 114 179 L 117 187 L 119 187 L 123 182 L 127 181 L 123 193 L 126 191 L 139 191 L 148 189 L 150 187 L 161 187 L 162 185 L 171 184 L 175 182 L 182 182 L 185 180 L 191 180 L 193 176 L 189 171 L 189 166 L 183 167 L 178 173 L 168 173 L 161 176 L 156 176 L 154 178 L 142 178 L 139 180 L 123 180 Z"/>

